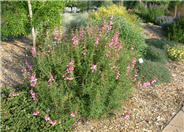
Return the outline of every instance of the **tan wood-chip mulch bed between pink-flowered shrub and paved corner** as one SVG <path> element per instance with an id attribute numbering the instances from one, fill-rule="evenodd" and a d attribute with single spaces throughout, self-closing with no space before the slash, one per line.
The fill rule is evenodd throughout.
<path id="1" fill-rule="evenodd" d="M 180 109 L 184 100 L 184 64 L 170 62 L 172 81 L 151 87 L 134 88 L 134 93 L 113 119 L 79 120 L 76 132 L 161 131 Z M 126 116 L 128 114 L 129 116 Z M 126 118 L 127 117 L 127 118 Z"/>

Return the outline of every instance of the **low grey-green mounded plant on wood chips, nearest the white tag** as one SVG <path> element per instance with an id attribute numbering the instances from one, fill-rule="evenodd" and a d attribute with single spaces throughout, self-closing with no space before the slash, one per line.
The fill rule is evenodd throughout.
<path id="1" fill-rule="evenodd" d="M 137 64 L 139 78 L 143 81 L 150 81 L 157 78 L 157 82 L 170 82 L 171 72 L 161 63 L 144 60 L 143 63 Z"/>

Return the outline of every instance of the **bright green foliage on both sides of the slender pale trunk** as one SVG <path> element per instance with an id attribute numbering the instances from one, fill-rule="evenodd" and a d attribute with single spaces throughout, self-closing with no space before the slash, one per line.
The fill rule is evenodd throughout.
<path id="1" fill-rule="evenodd" d="M 64 1 L 33 1 L 31 2 L 33 21 L 29 19 L 27 1 L 2 2 L 2 39 L 9 36 L 26 36 L 31 32 L 31 25 L 37 30 L 38 37 L 46 29 L 53 30 L 61 24 L 61 12 L 65 6 Z M 43 31 L 43 32 L 41 32 Z"/>

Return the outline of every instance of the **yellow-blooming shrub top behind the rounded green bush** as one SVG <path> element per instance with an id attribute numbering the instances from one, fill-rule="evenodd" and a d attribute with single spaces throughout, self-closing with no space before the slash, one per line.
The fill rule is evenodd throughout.
<path id="1" fill-rule="evenodd" d="M 95 19 L 101 19 L 105 16 L 110 16 L 110 15 L 117 15 L 117 16 L 123 16 L 125 17 L 130 23 L 132 23 L 135 27 L 137 27 L 137 16 L 130 14 L 124 6 L 117 6 L 115 4 L 107 7 L 100 7 L 98 11 L 96 12 L 91 12 L 90 17 L 95 18 Z M 137 27 L 140 29 L 140 27 Z"/>

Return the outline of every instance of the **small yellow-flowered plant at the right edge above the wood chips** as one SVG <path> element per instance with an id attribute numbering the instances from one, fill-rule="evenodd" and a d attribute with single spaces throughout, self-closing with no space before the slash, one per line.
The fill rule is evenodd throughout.
<path id="1" fill-rule="evenodd" d="M 178 49 L 177 47 L 167 47 L 167 53 L 172 60 L 180 61 L 184 59 L 184 50 Z"/>

